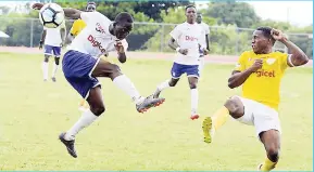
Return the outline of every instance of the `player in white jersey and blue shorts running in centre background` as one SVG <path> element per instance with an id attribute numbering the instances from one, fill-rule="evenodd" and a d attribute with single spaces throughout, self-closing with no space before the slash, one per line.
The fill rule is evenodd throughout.
<path id="1" fill-rule="evenodd" d="M 172 68 L 172 79 L 158 85 L 153 97 L 159 97 L 160 93 L 169 87 L 175 87 L 183 74 L 187 74 L 191 90 L 191 116 L 192 120 L 198 119 L 198 78 L 199 78 L 199 40 L 202 37 L 202 27 L 196 23 L 197 9 L 193 5 L 186 8 L 187 21 L 179 24 L 171 31 L 168 45 L 177 51 L 177 56 Z M 205 48 L 201 48 L 206 54 Z"/>

